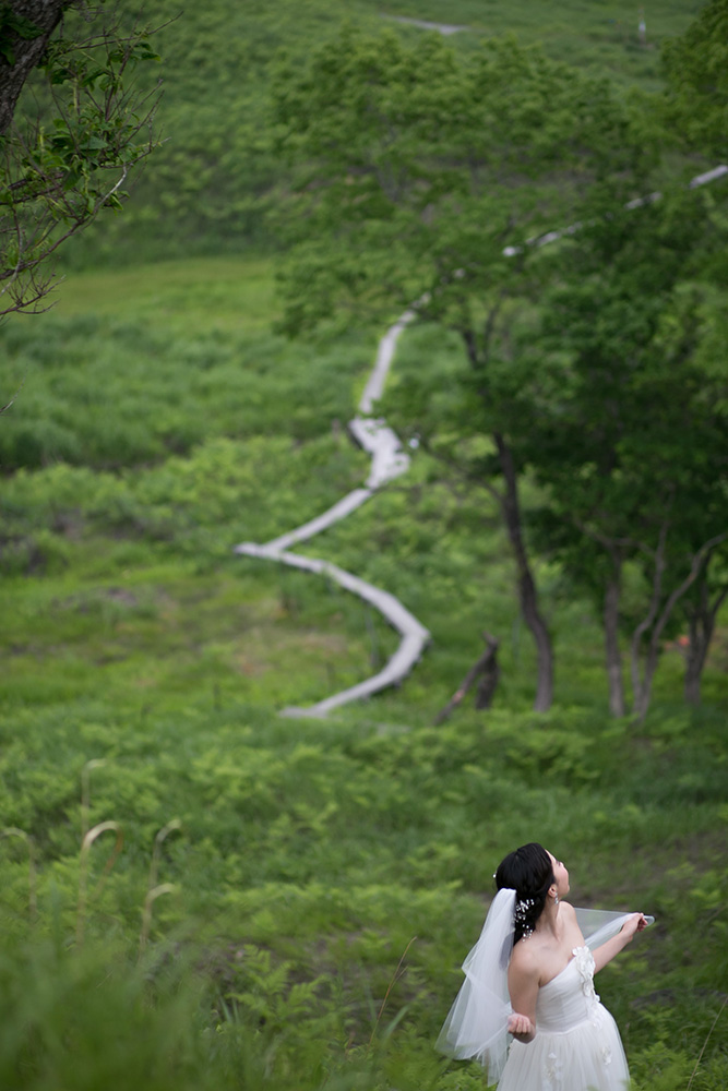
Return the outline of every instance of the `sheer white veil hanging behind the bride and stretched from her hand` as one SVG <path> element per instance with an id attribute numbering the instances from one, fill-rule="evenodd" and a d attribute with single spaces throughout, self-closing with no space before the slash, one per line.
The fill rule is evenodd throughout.
<path id="1" fill-rule="evenodd" d="M 515 890 L 499 890 L 492 900 L 480 938 L 463 962 L 465 981 L 455 997 L 437 1047 L 457 1060 L 475 1058 L 497 1083 L 508 1059 L 512 1014 L 508 968 L 513 950 Z M 577 909 L 586 946 L 594 950 L 617 935 L 629 913 Z"/>

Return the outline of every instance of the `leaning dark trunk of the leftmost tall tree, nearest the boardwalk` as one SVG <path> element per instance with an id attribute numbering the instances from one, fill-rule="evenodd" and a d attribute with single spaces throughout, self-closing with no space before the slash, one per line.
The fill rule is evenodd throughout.
<path id="1" fill-rule="evenodd" d="M 516 563 L 521 613 L 536 644 L 538 673 L 534 709 L 537 712 L 547 712 L 553 700 L 553 650 L 551 647 L 551 636 L 538 609 L 536 582 L 530 571 L 528 554 L 523 541 L 518 483 L 513 454 L 500 433 L 494 433 L 493 440 L 498 448 L 501 472 L 505 482 L 505 490 L 501 499 L 501 509 Z"/>

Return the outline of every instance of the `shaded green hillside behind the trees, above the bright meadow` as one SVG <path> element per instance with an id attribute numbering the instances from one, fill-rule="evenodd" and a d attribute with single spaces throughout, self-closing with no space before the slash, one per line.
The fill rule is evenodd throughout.
<path id="1" fill-rule="evenodd" d="M 134 10 L 136 4 L 129 4 Z M 524 43 L 542 41 L 550 57 L 574 60 L 593 74 L 655 87 L 660 44 L 682 32 L 697 2 L 660 0 L 651 5 L 646 47 L 637 13 L 626 0 L 558 7 L 529 0 L 508 5 L 449 0 L 445 19 L 469 29 L 451 39 L 462 52 L 477 51 L 484 37 L 515 32 Z M 183 7 L 157 0 L 154 37 L 163 62 L 150 81 L 164 77 L 160 117 L 165 144 L 140 181 L 123 218 L 106 217 L 74 245 L 75 263 L 158 260 L 270 249 L 276 244 L 263 208 L 275 204 L 282 178 L 271 147 L 267 89 L 272 57 L 285 50 L 303 65 L 312 49 L 344 23 L 369 31 L 396 27 L 406 40 L 421 31 L 391 16 L 443 17 L 433 0 L 382 7 L 378 0 L 274 0 L 230 4 L 208 0 Z M 142 75 L 143 73 L 140 73 Z"/>

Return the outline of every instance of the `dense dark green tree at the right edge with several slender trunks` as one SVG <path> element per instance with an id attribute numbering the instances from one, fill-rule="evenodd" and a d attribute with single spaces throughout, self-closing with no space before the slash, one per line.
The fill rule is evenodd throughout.
<path id="1" fill-rule="evenodd" d="M 728 539 L 728 374 L 707 367 L 711 292 L 695 279 L 706 238 L 715 245 L 712 204 L 676 192 L 565 241 L 544 300 L 540 369 L 520 396 L 524 456 L 547 489 L 541 541 L 601 603 L 616 715 L 625 711 L 622 580 L 628 565 L 639 573 L 630 624 L 639 719 L 676 607 L 693 619 L 694 687 L 725 595 L 720 587 L 712 599 L 709 564 Z"/>

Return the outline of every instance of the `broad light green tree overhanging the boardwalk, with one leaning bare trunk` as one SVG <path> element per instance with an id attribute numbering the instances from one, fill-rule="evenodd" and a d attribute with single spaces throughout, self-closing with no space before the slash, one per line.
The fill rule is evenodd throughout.
<path id="1" fill-rule="evenodd" d="M 349 29 L 303 72 L 281 68 L 274 115 L 298 171 L 285 195 L 296 242 L 285 328 L 415 303 L 456 332 L 476 407 L 468 431 L 490 437 L 477 468 L 508 529 L 545 710 L 553 657 L 523 531 L 523 463 L 502 425 L 500 345 L 510 301 L 539 285 L 528 240 L 634 197 L 648 143 L 606 85 L 510 39 L 462 58 L 434 35 L 406 48 Z"/>

